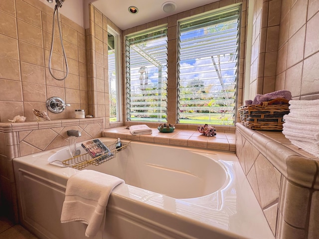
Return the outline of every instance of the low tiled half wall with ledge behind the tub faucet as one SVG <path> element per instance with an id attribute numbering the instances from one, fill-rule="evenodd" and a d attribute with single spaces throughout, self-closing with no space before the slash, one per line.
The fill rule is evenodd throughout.
<path id="1" fill-rule="evenodd" d="M 79 140 L 101 137 L 103 118 L 0 123 L 0 208 L 18 223 L 12 159 L 68 144 L 67 130 L 81 132 Z M 45 135 L 45 136 L 44 136 Z"/>

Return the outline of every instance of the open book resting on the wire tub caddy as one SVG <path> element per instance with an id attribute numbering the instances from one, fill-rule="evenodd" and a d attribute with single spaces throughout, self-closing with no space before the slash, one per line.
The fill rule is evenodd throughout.
<path id="1" fill-rule="evenodd" d="M 97 162 L 101 162 L 113 156 L 113 153 L 110 152 L 111 150 L 103 142 L 101 142 L 100 139 L 92 139 L 83 142 L 81 145 L 91 155 L 92 158 L 101 156 L 96 159 Z"/>

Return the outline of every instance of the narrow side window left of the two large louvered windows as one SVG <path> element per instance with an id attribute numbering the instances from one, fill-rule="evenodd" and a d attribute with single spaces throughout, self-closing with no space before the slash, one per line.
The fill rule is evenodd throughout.
<path id="1" fill-rule="evenodd" d="M 109 104 L 110 122 L 121 121 L 121 84 L 119 34 L 108 26 L 108 70 L 109 70 Z"/>

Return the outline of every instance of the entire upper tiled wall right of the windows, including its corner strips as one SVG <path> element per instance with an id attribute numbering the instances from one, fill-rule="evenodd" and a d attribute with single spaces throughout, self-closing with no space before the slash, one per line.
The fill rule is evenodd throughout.
<path id="1" fill-rule="evenodd" d="M 250 99 L 291 91 L 319 99 L 318 0 L 254 0 Z"/>

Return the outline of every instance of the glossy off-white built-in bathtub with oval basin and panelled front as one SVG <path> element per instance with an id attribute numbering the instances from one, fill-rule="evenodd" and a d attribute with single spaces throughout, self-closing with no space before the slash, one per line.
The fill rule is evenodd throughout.
<path id="1" fill-rule="evenodd" d="M 60 223 L 66 182 L 77 170 L 49 161 L 66 157 L 62 147 L 13 160 L 20 223 L 41 239 L 85 239 L 86 225 Z M 96 239 L 274 238 L 232 153 L 130 142 L 86 169 L 126 182 L 111 193 Z"/>

